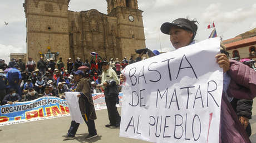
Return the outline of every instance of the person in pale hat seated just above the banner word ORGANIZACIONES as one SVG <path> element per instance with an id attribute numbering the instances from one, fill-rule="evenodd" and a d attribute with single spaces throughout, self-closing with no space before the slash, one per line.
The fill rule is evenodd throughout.
<path id="1" fill-rule="evenodd" d="M 3 104 L 15 104 L 19 101 L 21 101 L 21 96 L 14 89 L 9 89 L 9 94 L 4 96 Z"/>

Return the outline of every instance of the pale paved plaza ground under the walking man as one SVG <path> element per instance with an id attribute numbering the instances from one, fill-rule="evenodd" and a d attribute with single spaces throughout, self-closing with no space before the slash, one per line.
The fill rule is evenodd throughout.
<path id="1" fill-rule="evenodd" d="M 119 108 L 119 111 L 121 108 Z M 120 111 L 121 112 L 121 111 Z M 99 137 L 91 140 L 86 140 L 87 126 L 81 124 L 76 138 L 74 140 L 63 140 L 63 134 L 67 133 L 70 127 L 71 116 L 27 122 L 23 124 L 15 124 L 8 126 L 0 126 L 0 140 L 3 143 L 22 143 L 22 142 L 47 142 L 47 143 L 70 143 L 70 142 L 127 142 L 137 143 L 145 142 L 140 140 L 127 139 L 119 137 L 119 129 L 106 128 L 107 124 L 107 110 L 97 110 L 96 129 Z M 256 142 L 256 103 L 253 106 L 253 119 L 250 120 L 252 124 L 252 136 L 250 137 L 252 142 Z"/>

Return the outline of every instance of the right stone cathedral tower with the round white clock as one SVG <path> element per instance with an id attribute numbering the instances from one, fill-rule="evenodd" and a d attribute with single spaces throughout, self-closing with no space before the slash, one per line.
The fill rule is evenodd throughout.
<path id="1" fill-rule="evenodd" d="M 117 44 L 121 57 L 135 56 L 135 49 L 146 47 L 142 12 L 137 0 L 106 0 L 107 13 L 117 18 Z M 132 54 L 129 54 L 132 53 Z"/>

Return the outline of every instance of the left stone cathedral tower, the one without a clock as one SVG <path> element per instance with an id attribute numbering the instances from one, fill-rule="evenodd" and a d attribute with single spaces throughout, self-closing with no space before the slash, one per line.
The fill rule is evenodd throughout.
<path id="1" fill-rule="evenodd" d="M 68 38 L 68 3 L 70 0 L 25 0 L 27 56 L 70 57 Z"/>

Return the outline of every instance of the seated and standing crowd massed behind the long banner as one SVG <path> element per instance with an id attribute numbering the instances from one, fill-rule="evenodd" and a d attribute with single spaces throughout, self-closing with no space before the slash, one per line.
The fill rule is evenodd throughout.
<path id="1" fill-rule="evenodd" d="M 75 91 L 76 83 L 73 79 L 73 72 L 82 70 L 85 78 L 91 81 L 92 93 L 103 93 L 104 89 L 97 87 L 101 84 L 102 63 L 109 62 L 110 68 L 114 69 L 120 78 L 121 70 L 128 64 L 140 61 L 142 54 L 133 59 L 119 60 L 118 58 L 103 58 L 96 60 L 95 58 L 89 62 L 81 61 L 76 58 L 75 62 L 71 58 L 67 59 L 67 63 L 59 58 L 57 62 L 53 58 L 40 58 L 36 63 L 32 58 L 24 63 L 21 58 L 11 59 L 8 65 L 3 59 L 0 59 L 0 102 L 1 105 L 13 104 L 20 101 L 29 101 L 37 99 L 41 96 L 56 96 L 65 99 L 66 91 Z"/>

